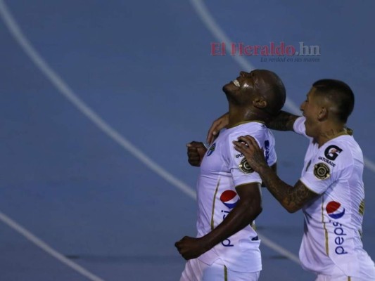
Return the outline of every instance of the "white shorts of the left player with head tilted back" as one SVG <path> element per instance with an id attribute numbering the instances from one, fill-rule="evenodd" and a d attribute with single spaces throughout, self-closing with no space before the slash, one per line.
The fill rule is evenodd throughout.
<path id="1" fill-rule="evenodd" d="M 258 281 L 260 271 L 255 273 L 240 273 L 229 270 L 221 259 L 209 266 L 198 259 L 186 262 L 179 281 Z"/>

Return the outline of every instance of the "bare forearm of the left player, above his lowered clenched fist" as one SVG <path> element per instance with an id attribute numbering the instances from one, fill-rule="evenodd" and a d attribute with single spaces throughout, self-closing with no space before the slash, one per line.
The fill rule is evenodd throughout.
<path id="1" fill-rule="evenodd" d="M 241 202 L 239 200 L 239 203 L 224 218 L 224 221 L 210 233 L 202 237 L 206 251 L 226 240 L 231 235 L 238 233 L 239 230 L 249 226 L 261 212 L 262 207 L 260 202 L 246 200 Z"/>

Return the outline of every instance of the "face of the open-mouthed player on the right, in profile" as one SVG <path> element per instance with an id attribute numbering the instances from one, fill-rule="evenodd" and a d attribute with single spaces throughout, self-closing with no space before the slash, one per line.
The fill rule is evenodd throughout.
<path id="1" fill-rule="evenodd" d="M 318 115 L 321 110 L 318 97 L 314 95 L 314 92 L 315 89 L 312 87 L 312 89 L 310 89 L 310 91 L 307 93 L 306 100 L 300 106 L 303 116 L 306 117 L 306 134 L 312 138 L 317 137 Z"/>

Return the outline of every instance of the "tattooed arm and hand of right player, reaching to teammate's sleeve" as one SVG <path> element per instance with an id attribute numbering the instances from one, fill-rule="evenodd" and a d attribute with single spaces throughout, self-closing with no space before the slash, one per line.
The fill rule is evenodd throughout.
<path id="1" fill-rule="evenodd" d="M 294 186 L 281 181 L 279 176 L 267 165 L 264 153 L 253 137 L 241 136 L 239 141 L 234 141 L 234 148 L 246 157 L 248 164 L 260 175 L 269 192 L 289 213 L 298 211 L 303 205 L 318 196 L 301 181 L 297 181 Z"/>

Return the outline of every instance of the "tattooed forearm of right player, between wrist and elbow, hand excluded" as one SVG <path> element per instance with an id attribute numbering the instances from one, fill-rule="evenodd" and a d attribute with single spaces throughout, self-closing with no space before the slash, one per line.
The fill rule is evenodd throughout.
<path id="1" fill-rule="evenodd" d="M 269 192 L 288 212 L 293 213 L 300 209 L 300 206 L 295 204 L 293 186 L 281 181 L 279 176 L 267 165 L 262 165 L 258 169 L 258 174 Z"/>

